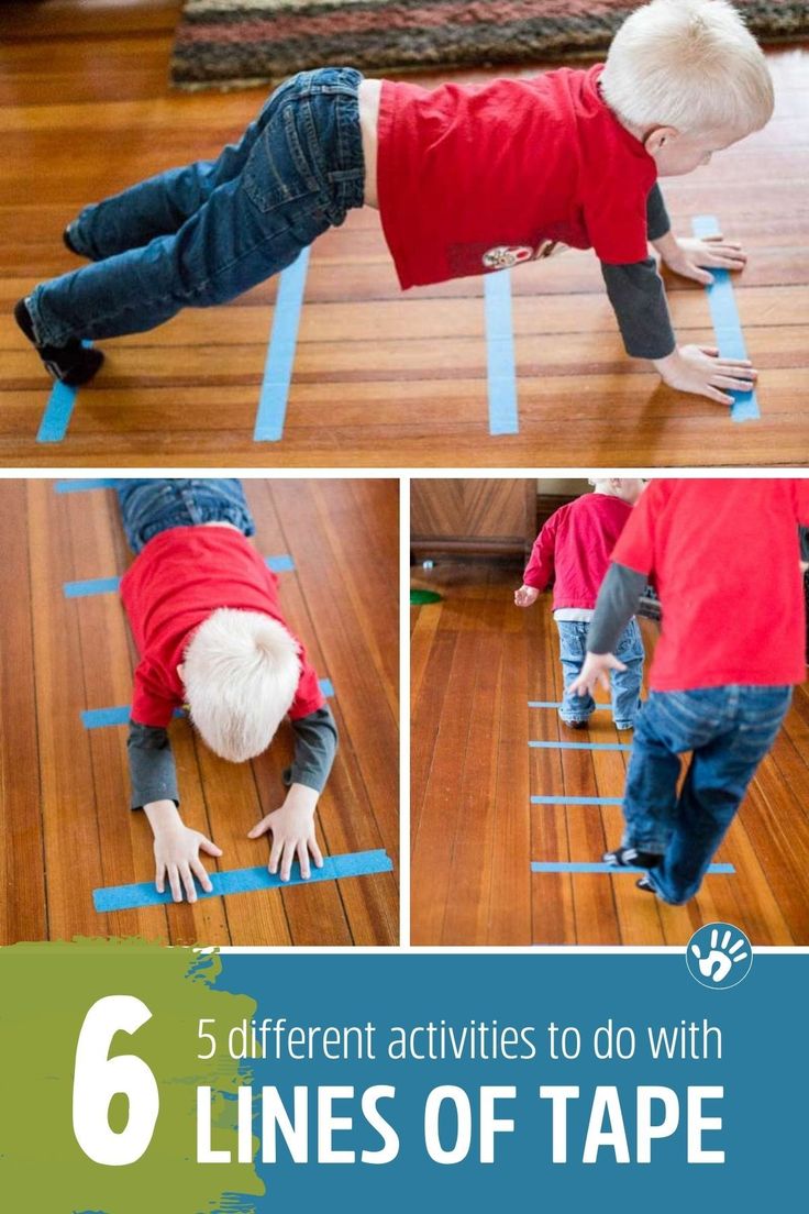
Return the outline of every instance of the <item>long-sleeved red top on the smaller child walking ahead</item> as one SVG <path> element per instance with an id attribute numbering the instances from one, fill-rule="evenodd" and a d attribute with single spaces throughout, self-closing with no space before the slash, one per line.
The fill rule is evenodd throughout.
<path id="1" fill-rule="evenodd" d="M 592 609 L 610 554 L 632 506 L 609 493 L 586 493 L 554 511 L 536 537 L 523 584 L 545 590 L 552 577 L 553 606 Z"/>

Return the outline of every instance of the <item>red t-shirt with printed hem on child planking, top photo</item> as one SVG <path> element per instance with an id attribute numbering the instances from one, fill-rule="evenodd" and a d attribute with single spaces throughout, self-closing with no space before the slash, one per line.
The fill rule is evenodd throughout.
<path id="1" fill-rule="evenodd" d="M 403 288 L 529 261 L 547 242 L 642 261 L 657 170 L 589 70 L 444 84 L 386 80 L 377 189 Z"/>

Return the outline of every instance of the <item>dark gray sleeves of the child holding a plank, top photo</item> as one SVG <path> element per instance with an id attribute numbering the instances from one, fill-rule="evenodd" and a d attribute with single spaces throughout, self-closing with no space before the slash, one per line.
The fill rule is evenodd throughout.
<path id="1" fill-rule="evenodd" d="M 659 240 L 671 228 L 660 187 L 655 185 L 646 199 L 646 234 Z M 632 358 L 666 358 L 677 345 L 666 289 L 654 257 L 625 266 L 602 262 L 606 294 Z"/>

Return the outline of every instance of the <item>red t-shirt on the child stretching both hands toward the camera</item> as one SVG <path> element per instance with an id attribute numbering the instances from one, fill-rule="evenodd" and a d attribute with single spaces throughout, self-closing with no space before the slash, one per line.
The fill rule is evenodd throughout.
<path id="1" fill-rule="evenodd" d="M 286 623 L 278 606 L 278 578 L 252 544 L 230 527 L 172 527 L 150 539 L 121 578 L 121 599 L 139 654 L 132 720 L 169 725 L 184 703 L 177 665 L 192 632 L 220 607 L 257 611 Z M 289 710 L 292 720 L 323 708 L 318 676 L 298 641 L 301 679 Z"/>

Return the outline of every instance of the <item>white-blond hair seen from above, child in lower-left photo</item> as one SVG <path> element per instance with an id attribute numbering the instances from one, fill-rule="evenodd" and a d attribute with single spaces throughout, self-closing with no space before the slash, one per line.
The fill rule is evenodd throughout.
<path id="1" fill-rule="evenodd" d="M 301 677 L 295 637 L 260 612 L 221 607 L 200 624 L 183 658 L 190 717 L 222 759 L 266 750 Z"/>

